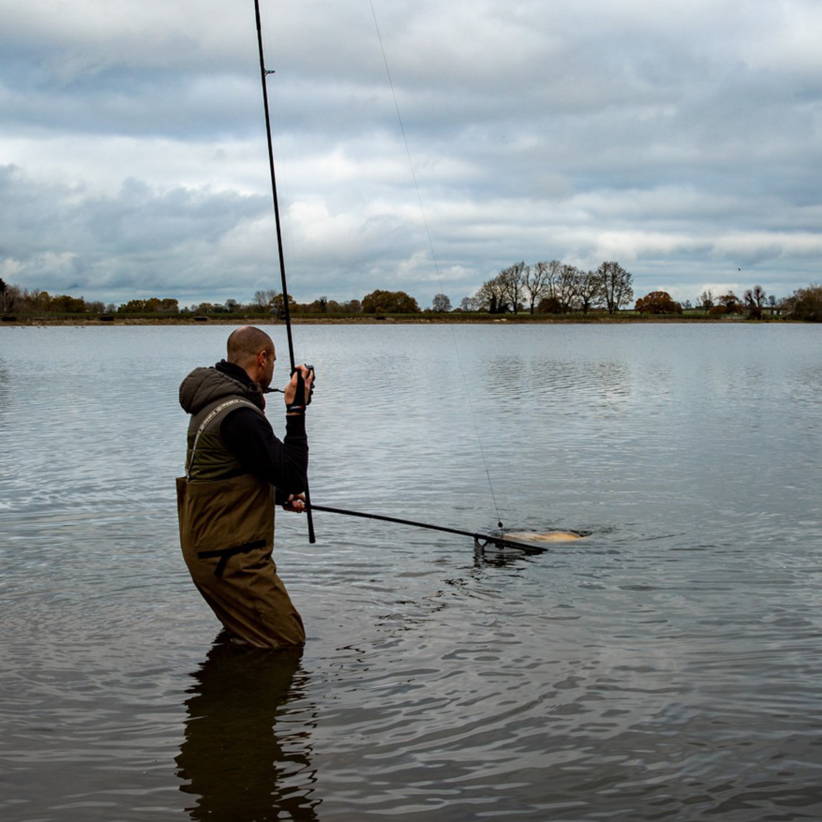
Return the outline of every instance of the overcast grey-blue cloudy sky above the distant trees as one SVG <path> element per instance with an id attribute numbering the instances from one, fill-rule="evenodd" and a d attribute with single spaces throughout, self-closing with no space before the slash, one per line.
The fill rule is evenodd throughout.
<path id="1" fill-rule="evenodd" d="M 822 279 L 819 0 L 261 7 L 298 302 L 456 305 L 520 260 L 692 301 Z M 266 151 L 253 0 L 0 0 L 7 282 L 250 301 Z"/>

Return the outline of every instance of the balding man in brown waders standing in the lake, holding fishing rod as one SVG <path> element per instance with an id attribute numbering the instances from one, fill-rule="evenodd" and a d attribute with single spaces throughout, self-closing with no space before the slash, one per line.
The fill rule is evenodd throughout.
<path id="1" fill-rule="evenodd" d="M 177 480 L 182 554 L 231 639 L 261 648 L 305 642 L 271 552 L 275 504 L 305 509 L 314 372 L 300 366 L 285 386 L 279 441 L 264 413 L 275 358 L 269 335 L 243 326 L 229 336 L 226 359 L 195 368 L 180 386 L 180 404 L 192 415 L 186 476 Z"/>

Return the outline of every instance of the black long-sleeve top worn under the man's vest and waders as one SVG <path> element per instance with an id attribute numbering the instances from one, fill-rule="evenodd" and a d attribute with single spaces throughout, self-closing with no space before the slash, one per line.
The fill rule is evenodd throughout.
<path id="1" fill-rule="evenodd" d="M 249 386 L 247 373 L 223 360 L 216 369 Z M 262 395 L 260 395 L 262 400 Z M 308 437 L 305 417 L 289 414 L 285 417 L 285 436 L 280 441 L 271 424 L 261 414 L 242 408 L 224 418 L 219 433 L 223 444 L 237 457 L 248 473 L 265 479 L 277 488 L 277 502 L 290 494 L 305 490 L 308 473 Z"/>

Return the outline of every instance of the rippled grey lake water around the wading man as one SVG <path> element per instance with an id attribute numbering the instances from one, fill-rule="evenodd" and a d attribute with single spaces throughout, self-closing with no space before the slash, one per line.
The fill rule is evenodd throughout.
<path id="1" fill-rule="evenodd" d="M 3 820 L 822 819 L 822 327 L 295 326 L 316 504 L 589 533 L 279 512 L 302 653 L 180 554 L 229 331 L 0 330 Z"/>

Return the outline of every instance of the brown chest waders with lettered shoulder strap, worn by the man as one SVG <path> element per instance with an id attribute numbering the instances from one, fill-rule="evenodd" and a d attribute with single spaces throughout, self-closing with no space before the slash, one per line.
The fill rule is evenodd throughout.
<path id="1" fill-rule="evenodd" d="M 192 580 L 233 637 L 261 648 L 305 642 L 271 553 L 275 488 L 242 470 L 225 448 L 219 423 L 227 413 L 256 405 L 219 400 L 192 417 L 186 476 L 177 478 L 180 545 Z"/>

